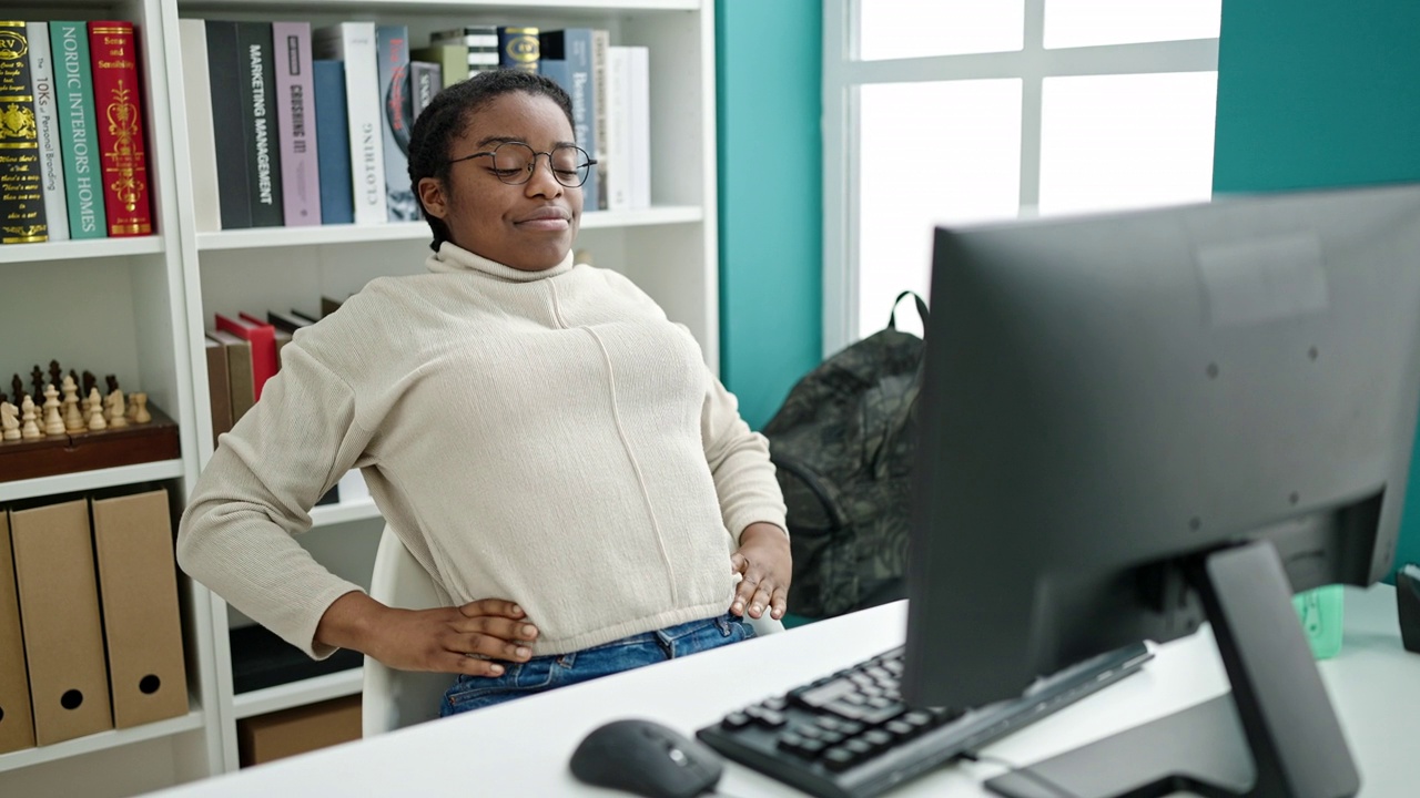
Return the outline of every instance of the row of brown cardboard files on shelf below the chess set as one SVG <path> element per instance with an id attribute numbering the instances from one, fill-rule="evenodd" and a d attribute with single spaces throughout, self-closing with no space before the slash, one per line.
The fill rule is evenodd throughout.
<path id="1" fill-rule="evenodd" d="M 162 487 L 0 507 L 0 754 L 187 714 Z"/>

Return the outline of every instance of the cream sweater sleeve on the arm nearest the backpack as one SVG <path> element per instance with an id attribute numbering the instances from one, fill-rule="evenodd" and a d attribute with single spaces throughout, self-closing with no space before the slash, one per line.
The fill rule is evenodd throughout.
<path id="1" fill-rule="evenodd" d="M 760 521 L 785 530 L 787 535 L 787 510 L 774 464 L 770 463 L 770 442 L 744 423 L 738 400 L 714 375 L 707 371 L 706 379 L 709 389 L 700 415 L 700 436 L 726 528 L 736 544 L 746 527 Z"/>

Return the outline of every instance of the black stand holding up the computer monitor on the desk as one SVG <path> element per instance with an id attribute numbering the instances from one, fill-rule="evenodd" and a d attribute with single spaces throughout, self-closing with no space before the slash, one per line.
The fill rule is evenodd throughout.
<path id="1" fill-rule="evenodd" d="M 1008 798 L 1342 798 L 1360 789 L 1272 544 L 1220 550 L 1190 571 L 1231 700 L 1221 696 L 1035 763 L 987 781 L 987 789 Z"/>

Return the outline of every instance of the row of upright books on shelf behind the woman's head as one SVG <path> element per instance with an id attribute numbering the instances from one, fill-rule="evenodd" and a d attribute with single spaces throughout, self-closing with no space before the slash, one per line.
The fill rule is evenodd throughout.
<path id="1" fill-rule="evenodd" d="M 649 51 L 602 30 L 179 20 L 197 230 L 419 219 L 413 121 L 444 85 L 541 71 L 572 98 L 598 172 L 585 210 L 650 206 Z M 219 158 L 220 153 L 220 158 Z"/>

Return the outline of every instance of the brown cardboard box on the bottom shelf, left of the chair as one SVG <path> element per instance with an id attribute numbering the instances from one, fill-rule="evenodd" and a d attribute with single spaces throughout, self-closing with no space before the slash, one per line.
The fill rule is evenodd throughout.
<path id="1" fill-rule="evenodd" d="M 359 740 L 359 696 L 346 696 L 239 720 L 241 767 Z"/>

